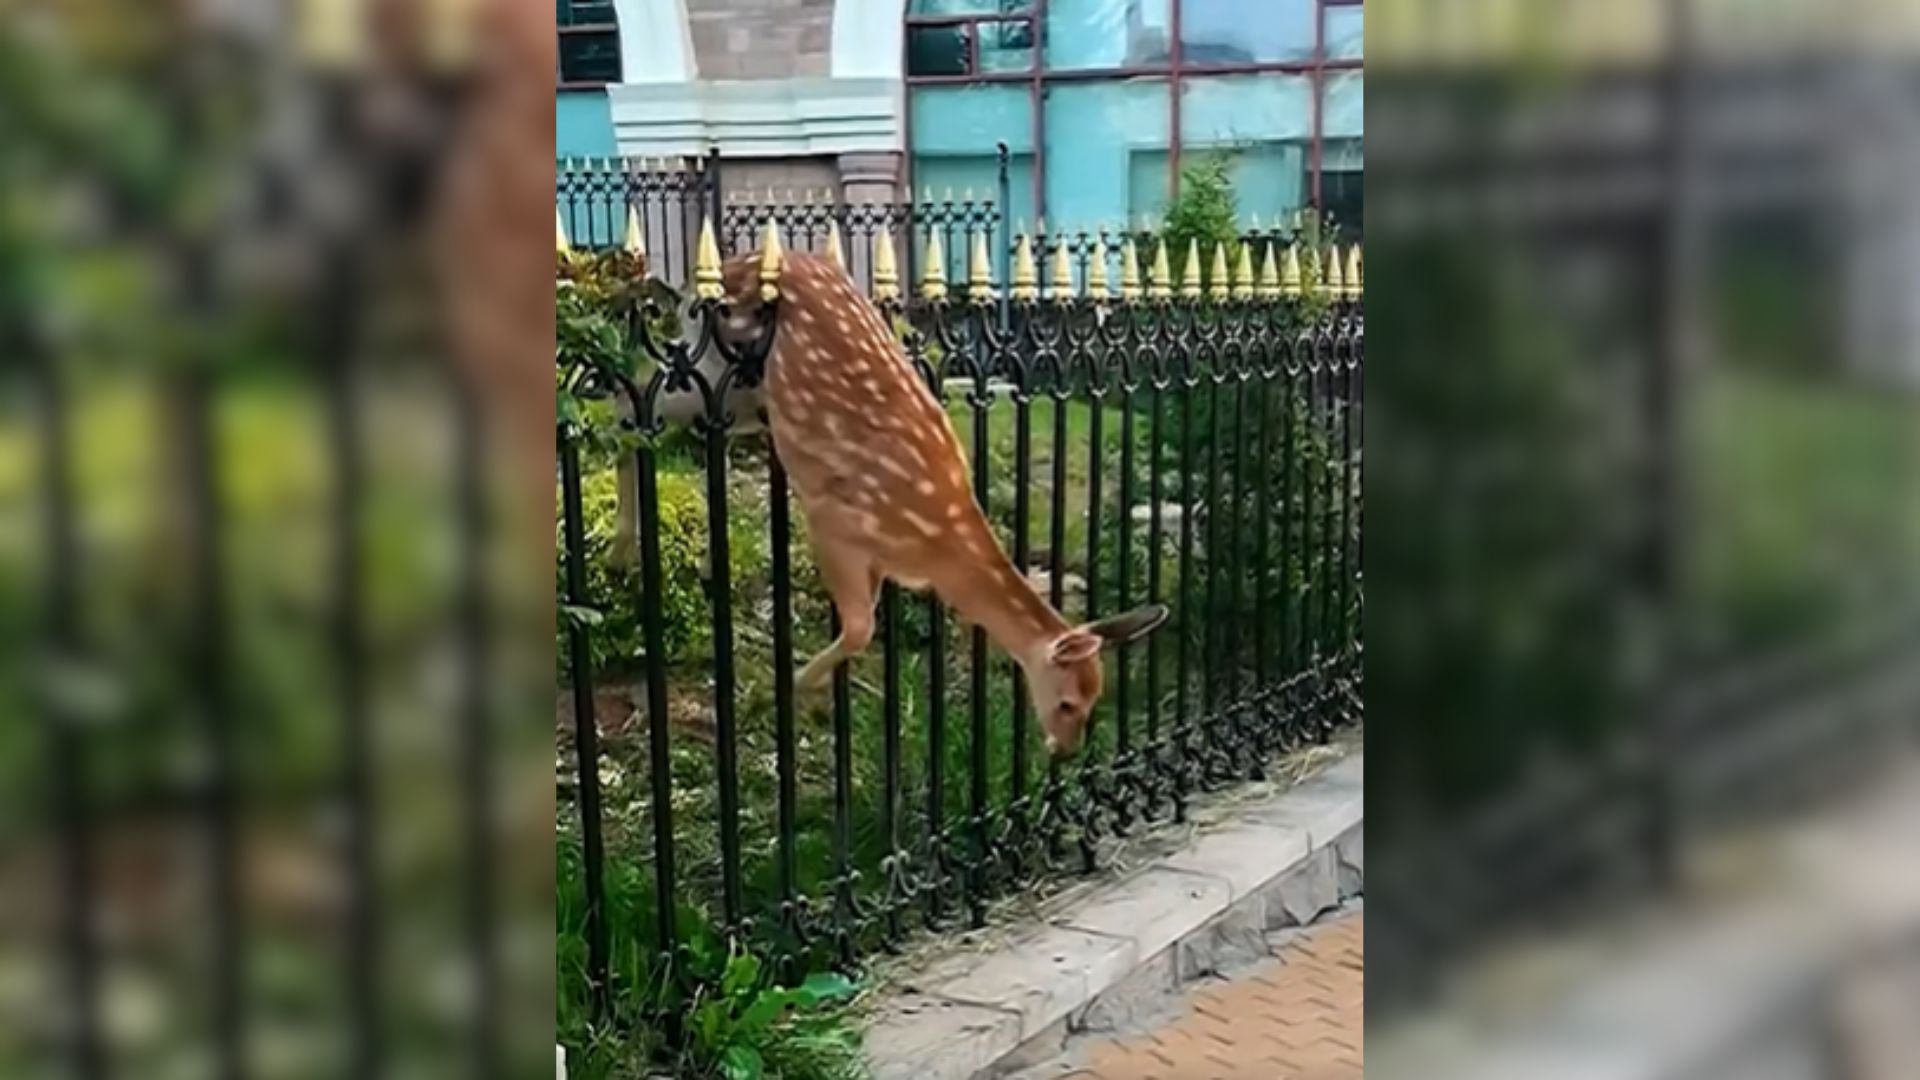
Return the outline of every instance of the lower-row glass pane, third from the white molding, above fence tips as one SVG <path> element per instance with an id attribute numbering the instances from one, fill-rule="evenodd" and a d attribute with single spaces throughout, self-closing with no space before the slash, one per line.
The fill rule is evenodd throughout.
<path id="1" fill-rule="evenodd" d="M 1181 94 L 1183 163 L 1227 154 L 1240 217 L 1275 221 L 1308 204 L 1304 184 L 1313 138 L 1308 75 L 1187 79 Z"/>

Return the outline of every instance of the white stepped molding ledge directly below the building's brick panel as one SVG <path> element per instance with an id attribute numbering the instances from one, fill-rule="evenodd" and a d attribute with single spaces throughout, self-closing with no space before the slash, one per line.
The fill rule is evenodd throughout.
<path id="1" fill-rule="evenodd" d="M 801 158 L 900 150 L 900 86 L 887 79 L 741 79 L 609 86 L 626 158 Z"/>

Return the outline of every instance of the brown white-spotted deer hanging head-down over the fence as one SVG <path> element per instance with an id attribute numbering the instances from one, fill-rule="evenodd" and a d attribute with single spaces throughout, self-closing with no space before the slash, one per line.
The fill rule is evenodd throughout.
<path id="1" fill-rule="evenodd" d="M 852 279 L 828 258 L 766 250 L 722 265 L 722 336 L 776 294 L 764 409 L 841 632 L 797 675 L 814 694 L 874 640 L 881 584 L 931 590 L 1025 673 L 1048 757 L 1079 753 L 1104 651 L 1144 638 L 1167 607 L 1071 625 L 1006 555 L 973 500 L 947 411 Z M 778 281 L 778 284 L 776 284 Z M 764 292 L 760 292 L 764 290 Z"/>

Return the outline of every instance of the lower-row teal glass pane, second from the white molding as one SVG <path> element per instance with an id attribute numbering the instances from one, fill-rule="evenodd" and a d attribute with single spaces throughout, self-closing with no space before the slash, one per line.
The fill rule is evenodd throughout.
<path id="1" fill-rule="evenodd" d="M 1135 219 L 1165 202 L 1167 81 L 1064 83 L 1046 90 L 1046 217 L 1062 229 Z M 1140 154 L 1160 158 L 1158 183 L 1135 192 Z"/>

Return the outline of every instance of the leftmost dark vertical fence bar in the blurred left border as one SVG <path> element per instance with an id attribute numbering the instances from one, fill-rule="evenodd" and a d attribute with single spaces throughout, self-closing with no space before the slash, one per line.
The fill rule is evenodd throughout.
<path id="1" fill-rule="evenodd" d="M 21 352 L 38 352 L 25 342 Z M 81 651 L 81 590 L 75 528 L 75 475 L 67 394 L 60 371 L 46 357 L 33 357 L 40 373 L 44 413 L 40 482 L 46 492 L 46 626 L 54 655 L 75 663 Z M 81 1080 L 108 1074 L 100 1032 L 100 942 L 94 936 L 94 821 L 88 799 L 88 753 L 79 721 L 58 696 L 42 701 L 52 759 L 54 811 L 60 822 L 60 955 L 67 972 L 67 1007 L 73 1011 L 73 1072 Z"/>

